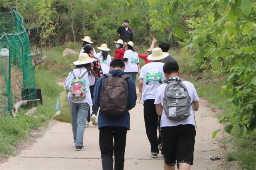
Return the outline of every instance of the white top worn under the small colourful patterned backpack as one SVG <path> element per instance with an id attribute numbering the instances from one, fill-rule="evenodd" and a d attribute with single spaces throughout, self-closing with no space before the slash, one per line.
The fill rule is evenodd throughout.
<path id="1" fill-rule="evenodd" d="M 87 71 L 86 68 L 82 67 L 81 68 L 77 68 L 77 69 L 73 69 L 74 75 L 83 75 L 85 72 Z M 65 81 L 65 85 L 64 88 L 70 89 L 71 88 L 71 80 L 74 78 L 72 72 L 70 71 L 70 73 L 68 73 L 68 77 Z M 86 88 L 86 98 L 84 98 L 84 100 L 82 101 L 72 101 L 73 103 L 88 103 L 90 106 L 92 106 L 92 97 L 91 97 L 91 92 L 90 92 L 90 85 L 94 85 L 95 82 L 95 77 L 94 75 L 88 75 L 88 73 L 86 73 L 84 75 L 84 77 L 82 78 L 82 81 L 85 84 L 85 88 Z M 70 93 L 68 93 L 68 99 L 70 98 Z"/>

